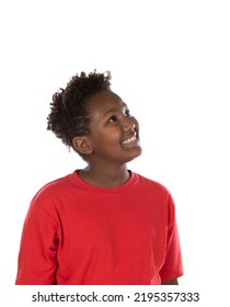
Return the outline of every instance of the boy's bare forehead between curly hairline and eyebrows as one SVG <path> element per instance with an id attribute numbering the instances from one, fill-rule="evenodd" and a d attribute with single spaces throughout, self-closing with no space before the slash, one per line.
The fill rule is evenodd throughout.
<path id="1" fill-rule="evenodd" d="M 101 91 L 89 99 L 88 110 L 89 113 L 103 116 L 111 110 L 119 110 L 125 107 L 126 104 L 116 93 L 112 91 Z"/>

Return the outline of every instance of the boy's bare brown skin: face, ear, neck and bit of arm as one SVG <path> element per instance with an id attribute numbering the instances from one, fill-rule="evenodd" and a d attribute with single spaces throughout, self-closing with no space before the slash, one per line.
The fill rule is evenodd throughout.
<path id="1" fill-rule="evenodd" d="M 88 166 L 79 175 L 95 186 L 112 189 L 129 180 L 127 162 L 141 155 L 139 124 L 124 101 L 112 91 L 101 91 L 88 101 L 90 130 L 74 137 L 74 148 Z M 177 285 L 177 280 L 162 285 Z"/>

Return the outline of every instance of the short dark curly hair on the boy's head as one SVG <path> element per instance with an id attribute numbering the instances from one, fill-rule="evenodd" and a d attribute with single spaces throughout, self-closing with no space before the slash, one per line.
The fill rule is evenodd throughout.
<path id="1" fill-rule="evenodd" d="M 103 90 L 111 90 L 110 71 L 97 73 L 94 70 L 88 75 L 82 71 L 80 76 L 73 76 L 66 89 L 59 89 L 53 95 L 47 129 L 60 138 L 69 149 L 76 150 L 72 139 L 90 133 L 87 102 Z"/>

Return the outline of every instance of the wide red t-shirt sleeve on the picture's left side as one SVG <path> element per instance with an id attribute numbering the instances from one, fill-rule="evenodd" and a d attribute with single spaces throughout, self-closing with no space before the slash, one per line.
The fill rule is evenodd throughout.
<path id="1" fill-rule="evenodd" d="M 16 285 L 55 284 L 59 243 L 56 216 L 50 197 L 35 196 L 23 226 Z"/>

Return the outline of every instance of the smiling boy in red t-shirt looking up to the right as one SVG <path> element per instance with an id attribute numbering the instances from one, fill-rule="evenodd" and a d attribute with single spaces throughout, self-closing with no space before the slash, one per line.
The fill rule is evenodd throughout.
<path id="1" fill-rule="evenodd" d="M 47 120 L 87 167 L 32 200 L 16 284 L 177 284 L 174 204 L 164 186 L 127 169 L 141 154 L 139 125 L 111 90 L 111 75 L 72 77 L 54 94 Z"/>

